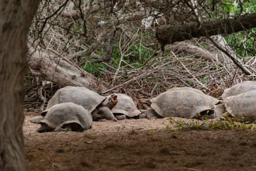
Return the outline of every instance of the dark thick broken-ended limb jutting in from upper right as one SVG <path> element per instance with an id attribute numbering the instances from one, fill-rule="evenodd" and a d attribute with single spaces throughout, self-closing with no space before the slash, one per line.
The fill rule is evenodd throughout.
<path id="1" fill-rule="evenodd" d="M 156 37 L 164 46 L 194 37 L 230 34 L 254 27 L 256 27 L 256 13 L 202 22 L 201 25 L 195 22 L 184 25 L 165 25 L 156 30 Z"/>

